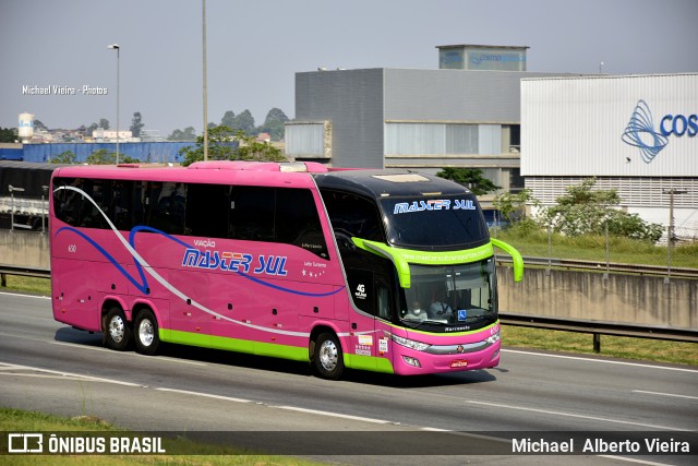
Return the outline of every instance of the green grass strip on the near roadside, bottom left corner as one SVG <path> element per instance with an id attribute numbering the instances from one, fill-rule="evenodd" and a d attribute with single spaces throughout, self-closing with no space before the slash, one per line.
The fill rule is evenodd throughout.
<path id="1" fill-rule="evenodd" d="M 85 432 L 85 437 L 107 437 L 117 433 L 128 435 L 129 431 L 111 426 L 94 417 L 79 417 L 65 419 L 43 413 L 25 411 L 13 408 L 0 408 L 0 431 L 2 432 Z M 140 437 L 140 435 L 139 435 Z M 44 449 L 47 451 L 45 435 Z M 185 466 L 218 466 L 218 465 L 291 465 L 316 466 L 322 463 L 305 459 L 270 456 L 263 454 L 246 454 L 233 446 L 210 445 L 191 442 L 186 439 L 163 439 L 166 451 L 191 452 L 184 455 L 2 455 L 2 465 L 85 465 L 85 466 L 120 466 L 120 465 L 185 465 Z M 244 454 L 243 454 L 244 453 Z"/>

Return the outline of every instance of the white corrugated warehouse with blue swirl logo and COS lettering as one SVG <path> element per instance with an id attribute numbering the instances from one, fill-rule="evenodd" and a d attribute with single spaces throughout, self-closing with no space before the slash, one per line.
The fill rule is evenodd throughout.
<path id="1" fill-rule="evenodd" d="M 521 176 L 552 205 L 595 177 L 621 207 L 698 239 L 698 73 L 521 80 Z M 673 193 L 673 194 L 672 194 Z M 665 240 L 665 238 L 664 238 Z"/>

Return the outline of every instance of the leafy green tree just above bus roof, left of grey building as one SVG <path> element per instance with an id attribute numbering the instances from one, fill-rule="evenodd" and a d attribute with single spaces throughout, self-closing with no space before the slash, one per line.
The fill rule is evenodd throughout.
<path id="1" fill-rule="evenodd" d="M 184 157 L 183 166 L 189 166 L 194 162 L 204 159 L 204 136 L 196 138 L 196 145 L 193 147 L 182 147 L 180 155 Z M 238 130 L 233 131 L 228 127 L 216 127 L 208 130 L 208 159 L 209 160 L 266 160 L 282 162 L 286 158 L 281 151 L 267 142 L 255 141 L 253 136 L 246 135 Z"/>

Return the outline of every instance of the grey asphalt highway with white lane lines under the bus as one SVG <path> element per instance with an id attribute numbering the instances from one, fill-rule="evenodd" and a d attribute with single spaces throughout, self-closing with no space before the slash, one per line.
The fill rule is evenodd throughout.
<path id="1" fill-rule="evenodd" d="M 687 431 L 695 438 L 698 368 L 505 348 L 492 370 L 423 378 L 349 372 L 333 382 L 311 375 L 303 363 L 232 353 L 181 346 L 166 346 L 156 357 L 111 351 L 101 346 L 100 334 L 53 321 L 47 298 L 0 292 L 0 405 L 96 416 L 135 431 L 258 432 L 261 438 L 274 432 L 312 443 L 306 456 L 345 464 L 423 464 L 425 456 L 374 453 L 406 432 L 407 453 L 417 442 L 435 445 L 443 435 L 464 442 L 478 434 L 495 445 L 502 443 L 493 440 L 498 432 L 551 442 L 555 432 L 566 431 L 633 438 Z M 421 433 L 412 439 L 413 432 Z M 442 437 L 433 439 L 433 432 Z M 347 454 L 351 442 L 366 455 Z M 453 456 L 459 451 L 448 446 L 446 454 L 431 456 L 440 453 L 434 445 L 416 452 L 434 464 L 562 459 Z M 564 461 L 696 464 L 696 456 L 602 453 Z"/>

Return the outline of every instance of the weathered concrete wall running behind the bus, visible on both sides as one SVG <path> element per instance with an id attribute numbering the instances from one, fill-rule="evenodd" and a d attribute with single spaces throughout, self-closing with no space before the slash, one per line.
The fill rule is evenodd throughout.
<path id="1" fill-rule="evenodd" d="M 0 264 L 49 268 L 48 235 L 0 229 Z M 698 280 L 498 266 L 500 309 L 527 315 L 698 328 Z"/>

